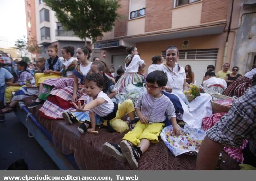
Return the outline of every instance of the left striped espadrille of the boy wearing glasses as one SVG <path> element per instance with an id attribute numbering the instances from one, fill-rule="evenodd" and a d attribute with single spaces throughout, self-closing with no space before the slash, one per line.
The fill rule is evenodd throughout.
<path id="1" fill-rule="evenodd" d="M 122 150 L 119 145 L 114 143 L 104 143 L 102 146 L 103 150 L 110 156 L 113 156 L 116 160 L 118 160 L 121 163 L 126 162 L 126 158 L 124 154 L 122 153 Z"/>

